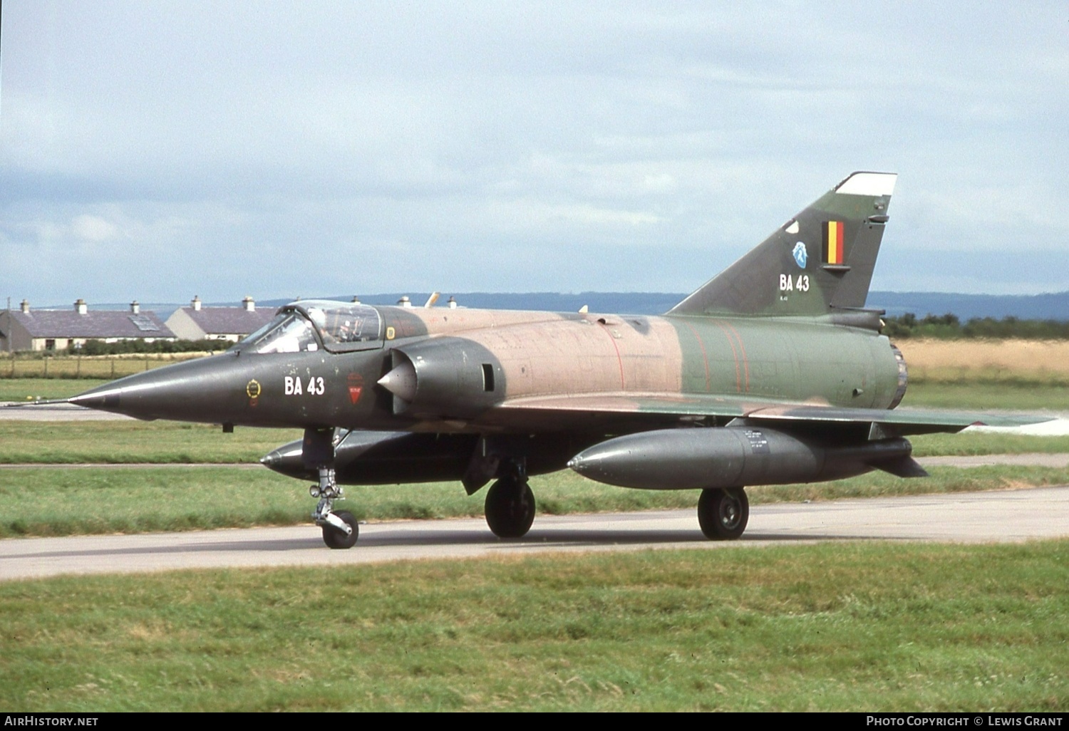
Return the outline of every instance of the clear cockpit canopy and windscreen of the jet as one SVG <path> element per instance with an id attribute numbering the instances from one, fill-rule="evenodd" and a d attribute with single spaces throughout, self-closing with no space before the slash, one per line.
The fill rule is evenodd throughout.
<path id="1" fill-rule="evenodd" d="M 330 353 L 383 346 L 383 320 L 369 305 L 308 299 L 279 308 L 275 318 L 237 343 L 243 353 Z"/>

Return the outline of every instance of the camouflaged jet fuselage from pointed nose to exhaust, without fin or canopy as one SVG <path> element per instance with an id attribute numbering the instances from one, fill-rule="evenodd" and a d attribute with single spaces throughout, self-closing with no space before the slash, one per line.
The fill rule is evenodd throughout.
<path id="1" fill-rule="evenodd" d="M 863 327 L 795 318 L 374 309 L 382 337 L 365 349 L 332 353 L 323 343 L 301 352 L 235 348 L 122 378 L 74 403 L 140 419 L 246 426 L 475 434 L 582 425 L 622 433 L 629 413 L 666 394 L 683 402 L 857 408 L 887 408 L 900 396 L 895 352 L 886 337 Z M 379 385 L 402 361 L 410 363 L 409 390 Z M 539 400 L 578 394 L 594 398 L 587 404 L 603 395 L 619 414 L 537 408 Z M 517 403 L 536 408 L 512 408 Z M 628 403 L 633 409 L 621 406 Z"/>

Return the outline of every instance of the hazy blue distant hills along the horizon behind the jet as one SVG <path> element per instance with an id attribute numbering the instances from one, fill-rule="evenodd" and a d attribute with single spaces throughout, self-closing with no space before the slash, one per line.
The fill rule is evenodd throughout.
<path id="1" fill-rule="evenodd" d="M 360 295 L 360 301 L 368 305 L 396 305 L 407 295 L 413 306 L 421 307 L 430 296 L 429 292 L 387 293 Z M 559 292 L 466 292 L 453 293 L 456 304 L 462 307 L 490 308 L 497 310 L 546 310 L 549 312 L 575 312 L 586 305 L 591 312 L 619 312 L 624 314 L 661 314 L 675 307 L 687 293 L 681 292 L 580 292 L 579 294 L 563 294 Z M 438 307 L 445 306 L 449 294 L 443 294 Z M 324 299 L 348 301 L 352 295 L 326 296 Z M 289 299 L 261 299 L 257 301 L 260 309 L 274 309 L 288 304 Z M 161 318 L 167 320 L 182 305 L 145 302 L 142 310 L 152 310 Z M 239 301 L 205 302 L 205 307 L 236 307 Z M 59 306 L 66 309 L 71 307 Z M 90 308 L 96 310 L 125 310 L 129 305 L 96 305 L 90 302 Z M 884 309 L 890 315 L 902 315 L 913 312 L 918 316 L 926 314 L 942 315 L 952 312 L 965 322 L 972 317 L 1006 316 L 1021 320 L 1064 320 L 1069 321 L 1069 292 L 1057 292 L 1040 295 L 969 295 L 948 292 L 871 292 L 868 307 Z"/>

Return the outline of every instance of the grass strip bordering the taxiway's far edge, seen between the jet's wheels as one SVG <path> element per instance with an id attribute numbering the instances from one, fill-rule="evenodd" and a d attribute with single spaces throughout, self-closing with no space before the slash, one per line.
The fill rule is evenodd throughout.
<path id="1" fill-rule="evenodd" d="M 931 478 L 902 480 L 872 472 L 810 485 L 747 488 L 750 502 L 1007 489 L 1069 483 L 1069 469 L 940 467 Z M 531 478 L 540 515 L 684 508 L 697 491 L 641 491 L 591 482 L 571 471 Z M 484 492 L 460 483 L 346 487 L 338 509 L 361 520 L 479 517 Z M 17 467 L 0 469 L 0 538 L 149 532 L 310 524 L 308 483 L 267 469 Z"/>

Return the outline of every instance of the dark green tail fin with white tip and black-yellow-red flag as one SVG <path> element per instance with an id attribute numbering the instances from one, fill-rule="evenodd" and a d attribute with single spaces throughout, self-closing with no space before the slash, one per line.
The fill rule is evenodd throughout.
<path id="1" fill-rule="evenodd" d="M 821 315 L 865 307 L 897 177 L 852 173 L 668 314 Z"/>

